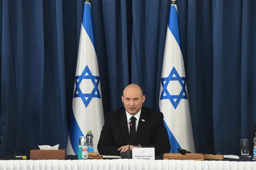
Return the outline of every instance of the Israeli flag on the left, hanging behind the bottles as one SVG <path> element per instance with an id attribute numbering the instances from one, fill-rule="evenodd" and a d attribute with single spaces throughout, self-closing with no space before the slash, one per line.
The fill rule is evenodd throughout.
<path id="1" fill-rule="evenodd" d="M 97 145 L 103 124 L 104 114 L 92 29 L 91 6 L 89 3 L 85 3 L 77 57 L 67 155 L 77 155 L 79 137 L 86 136 L 88 130 L 91 130 L 94 136 L 94 152 L 98 152 Z"/>

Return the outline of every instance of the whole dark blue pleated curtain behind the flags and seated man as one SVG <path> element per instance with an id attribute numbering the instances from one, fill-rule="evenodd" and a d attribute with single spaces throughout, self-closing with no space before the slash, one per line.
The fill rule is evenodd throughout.
<path id="1" fill-rule="evenodd" d="M 0 156 L 66 148 L 83 2 L 0 3 Z M 122 106 L 129 83 L 158 108 L 170 3 L 91 0 L 105 112 Z M 256 2 L 177 6 L 196 151 L 240 154 L 256 121 Z"/>

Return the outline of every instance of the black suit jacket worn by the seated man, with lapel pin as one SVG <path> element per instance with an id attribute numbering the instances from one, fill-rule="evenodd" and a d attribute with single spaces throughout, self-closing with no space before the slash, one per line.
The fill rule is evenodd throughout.
<path id="1" fill-rule="evenodd" d="M 145 121 L 142 122 L 141 119 Z M 142 107 L 136 131 L 136 145 L 155 147 L 156 155 L 169 153 L 171 146 L 163 119 L 163 113 Z M 119 110 L 107 113 L 98 142 L 99 154 L 120 155 L 118 148 L 128 145 L 129 140 L 125 108 L 122 107 Z"/>

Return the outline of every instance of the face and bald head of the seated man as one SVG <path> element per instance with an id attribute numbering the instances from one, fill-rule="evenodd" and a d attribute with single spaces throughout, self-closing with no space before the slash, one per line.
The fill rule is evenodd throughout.
<path id="1" fill-rule="evenodd" d="M 130 115 L 136 115 L 144 101 L 145 96 L 142 96 L 141 90 L 137 87 L 127 87 L 123 92 L 122 102 Z"/>

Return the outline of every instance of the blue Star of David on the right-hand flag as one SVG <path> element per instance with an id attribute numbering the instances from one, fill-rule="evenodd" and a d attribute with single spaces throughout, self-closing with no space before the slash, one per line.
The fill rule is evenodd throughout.
<path id="1" fill-rule="evenodd" d="M 171 95 L 169 93 L 169 91 L 167 90 L 167 87 L 168 87 L 168 84 L 170 81 L 179 81 L 179 83 L 182 87 L 179 95 Z M 173 67 L 171 69 L 171 72 L 168 77 L 164 77 L 161 79 L 161 84 L 163 87 L 163 91 L 161 93 L 160 100 L 169 99 L 175 109 L 178 107 L 181 99 L 188 99 L 186 88 L 185 88 L 186 87 L 186 77 L 180 77 L 179 73 L 177 72 L 175 67 Z M 177 100 L 175 101 L 174 99 L 177 99 Z"/>

